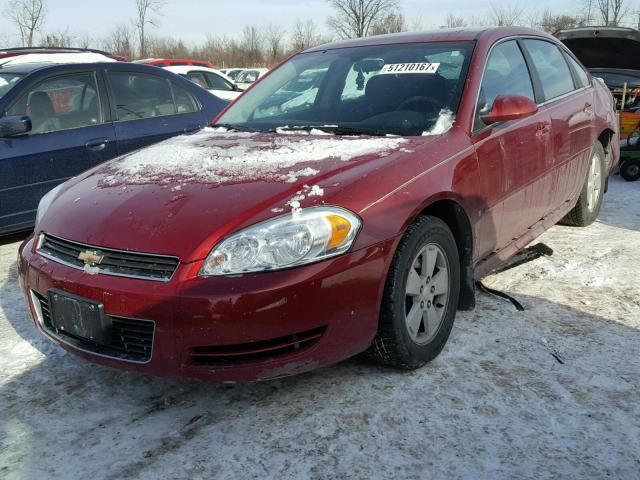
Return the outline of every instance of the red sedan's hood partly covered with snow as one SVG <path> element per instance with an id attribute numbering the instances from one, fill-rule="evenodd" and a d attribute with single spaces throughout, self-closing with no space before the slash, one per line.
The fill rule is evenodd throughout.
<path id="1" fill-rule="evenodd" d="M 319 133 L 319 132 L 318 132 Z M 61 188 L 39 229 L 90 245 L 204 258 L 221 238 L 300 204 L 331 203 L 331 178 L 360 178 L 430 138 L 207 128 L 102 164 Z M 343 182 L 344 185 L 344 182 Z M 342 205 L 349 208 L 349 205 Z"/>

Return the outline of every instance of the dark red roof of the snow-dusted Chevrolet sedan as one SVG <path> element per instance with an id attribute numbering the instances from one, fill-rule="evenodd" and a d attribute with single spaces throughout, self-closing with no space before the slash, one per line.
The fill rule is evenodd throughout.
<path id="1" fill-rule="evenodd" d="M 354 38 L 351 40 L 342 40 L 339 42 L 319 45 L 306 51 L 317 52 L 336 48 L 390 45 L 394 43 L 470 42 L 488 35 L 495 36 L 496 38 L 508 37 L 512 35 L 535 35 L 550 37 L 546 33 L 539 30 L 524 27 L 445 28 L 427 32 L 393 33 L 390 35 L 375 35 L 372 37 Z"/>

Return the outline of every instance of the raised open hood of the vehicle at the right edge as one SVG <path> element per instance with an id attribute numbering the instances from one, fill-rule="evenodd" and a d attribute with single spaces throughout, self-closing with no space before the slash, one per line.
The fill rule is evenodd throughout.
<path id="1" fill-rule="evenodd" d="M 640 33 L 630 28 L 575 28 L 556 37 L 587 68 L 640 70 Z"/>

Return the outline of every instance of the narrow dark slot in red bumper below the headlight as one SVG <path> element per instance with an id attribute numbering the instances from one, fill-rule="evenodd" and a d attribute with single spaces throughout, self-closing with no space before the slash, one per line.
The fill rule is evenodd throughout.
<path id="1" fill-rule="evenodd" d="M 310 348 L 325 330 L 326 327 L 315 328 L 261 342 L 195 347 L 191 350 L 190 361 L 196 365 L 235 365 L 272 359 Z"/>

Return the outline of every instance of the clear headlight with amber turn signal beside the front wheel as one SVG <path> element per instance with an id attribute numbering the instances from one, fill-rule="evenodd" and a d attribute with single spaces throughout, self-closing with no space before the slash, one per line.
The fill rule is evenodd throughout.
<path id="1" fill-rule="evenodd" d="M 217 245 L 201 276 L 279 270 L 346 252 L 360 219 L 338 207 L 311 207 L 253 225 Z"/>

